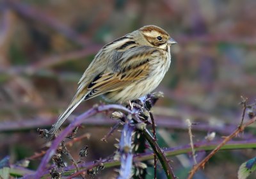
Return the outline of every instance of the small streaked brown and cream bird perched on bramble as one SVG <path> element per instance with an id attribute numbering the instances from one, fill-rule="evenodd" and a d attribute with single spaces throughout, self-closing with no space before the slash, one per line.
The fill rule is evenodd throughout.
<path id="1" fill-rule="evenodd" d="M 101 95 L 108 102 L 124 104 L 151 93 L 170 67 L 170 47 L 175 43 L 164 29 L 150 25 L 104 45 L 84 71 L 74 98 L 49 134 L 55 134 L 84 100 Z"/>

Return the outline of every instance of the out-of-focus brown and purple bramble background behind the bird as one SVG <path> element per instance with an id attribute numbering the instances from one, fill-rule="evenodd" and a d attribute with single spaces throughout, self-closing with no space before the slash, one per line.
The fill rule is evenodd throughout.
<path id="1" fill-rule="evenodd" d="M 251 102 L 256 98 L 255 9 L 254 0 L 1 0 L 0 159 L 8 155 L 15 164 L 40 152 L 45 141 L 36 128 L 56 121 L 97 51 L 149 24 L 178 42 L 170 70 L 156 89 L 164 93 L 154 107 L 160 142 L 166 147 L 188 144 L 187 118 L 198 124 L 192 128 L 195 141 L 209 132 L 216 132 L 216 139 L 227 136 L 241 120 L 241 96 Z M 84 102 L 69 120 L 100 102 Z M 100 141 L 115 123 L 109 116 L 97 115 L 79 130 L 91 137 L 70 149 L 74 158 L 85 144 L 88 161 L 113 153 L 119 134 L 108 143 Z M 218 178 L 236 178 L 239 165 L 253 155 L 255 150 L 219 152 L 197 177 L 216 178 L 218 173 Z M 170 159 L 175 174 L 186 178 L 193 160 L 182 156 Z M 38 162 L 31 161 L 29 168 L 36 169 Z M 106 169 L 97 177 L 112 175 L 113 169 Z"/>

